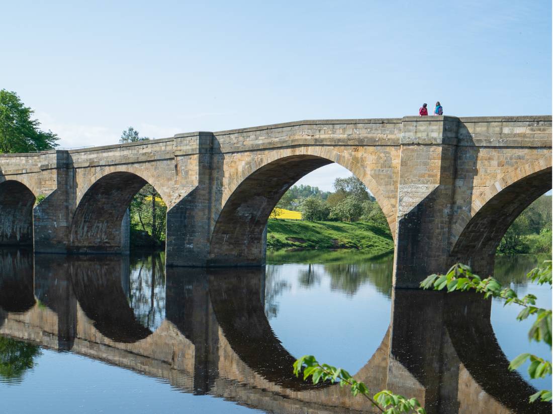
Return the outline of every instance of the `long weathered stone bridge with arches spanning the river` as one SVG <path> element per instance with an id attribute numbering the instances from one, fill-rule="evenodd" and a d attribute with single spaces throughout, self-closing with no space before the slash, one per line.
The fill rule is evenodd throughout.
<path id="1" fill-rule="evenodd" d="M 551 189 L 551 116 L 299 121 L 2 155 L 0 242 L 124 253 L 127 206 L 150 183 L 168 205 L 168 266 L 259 266 L 274 205 L 332 162 L 382 207 L 395 286 L 455 261 L 491 273 L 511 222 Z"/>

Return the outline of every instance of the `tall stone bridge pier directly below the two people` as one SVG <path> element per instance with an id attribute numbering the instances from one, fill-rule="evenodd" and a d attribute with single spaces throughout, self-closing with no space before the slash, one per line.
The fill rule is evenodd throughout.
<path id="1" fill-rule="evenodd" d="M 406 118 L 401 132 L 394 286 L 418 288 L 448 266 L 459 119 Z"/>

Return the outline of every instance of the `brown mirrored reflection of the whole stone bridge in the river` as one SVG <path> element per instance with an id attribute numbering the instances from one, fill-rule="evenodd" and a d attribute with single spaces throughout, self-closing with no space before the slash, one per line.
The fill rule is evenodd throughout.
<path id="1" fill-rule="evenodd" d="M 163 272 L 155 259 L 151 266 Z M 126 256 L 2 251 L 0 269 L 3 337 L 271 412 L 371 410 L 337 385 L 292 375 L 295 357 L 265 315 L 264 268 L 168 268 L 164 293 L 163 275 L 143 283 Z M 137 297 L 140 286 L 150 289 L 148 298 Z M 356 374 L 370 389 L 416 396 L 429 413 L 551 411 L 550 404 L 529 405 L 535 390 L 508 370 L 489 321 L 491 301 L 433 291 L 391 294 L 388 331 Z M 154 295 L 164 296 L 160 323 L 151 323 Z"/>

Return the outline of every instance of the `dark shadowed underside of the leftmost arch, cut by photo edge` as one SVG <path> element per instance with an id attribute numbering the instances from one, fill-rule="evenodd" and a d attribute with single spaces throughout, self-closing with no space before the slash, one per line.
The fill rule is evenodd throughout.
<path id="1" fill-rule="evenodd" d="M 35 195 L 15 180 L 0 183 L 0 246 L 33 245 Z"/>

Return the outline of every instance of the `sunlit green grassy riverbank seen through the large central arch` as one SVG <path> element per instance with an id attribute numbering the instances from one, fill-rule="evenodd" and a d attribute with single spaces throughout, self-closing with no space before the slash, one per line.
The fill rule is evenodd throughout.
<path id="1" fill-rule="evenodd" d="M 270 219 L 267 247 L 371 250 L 378 254 L 393 250 L 394 244 L 389 232 L 371 222 Z"/>

